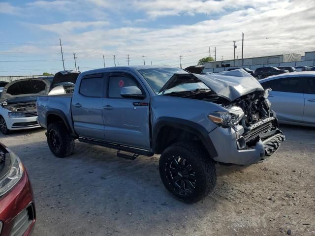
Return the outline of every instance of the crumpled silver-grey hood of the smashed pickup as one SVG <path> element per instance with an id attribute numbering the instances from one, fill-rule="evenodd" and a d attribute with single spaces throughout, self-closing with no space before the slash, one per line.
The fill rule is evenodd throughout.
<path id="1" fill-rule="evenodd" d="M 263 91 L 259 82 L 243 70 L 223 71 L 213 75 L 194 74 L 219 96 L 231 101 L 254 91 Z"/>

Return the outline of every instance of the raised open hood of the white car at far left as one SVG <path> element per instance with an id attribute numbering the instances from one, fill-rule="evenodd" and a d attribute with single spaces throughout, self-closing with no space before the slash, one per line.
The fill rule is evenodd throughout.
<path id="1" fill-rule="evenodd" d="M 50 83 L 45 79 L 32 78 L 15 80 L 4 86 L 0 102 L 20 97 L 47 95 L 49 89 Z"/>

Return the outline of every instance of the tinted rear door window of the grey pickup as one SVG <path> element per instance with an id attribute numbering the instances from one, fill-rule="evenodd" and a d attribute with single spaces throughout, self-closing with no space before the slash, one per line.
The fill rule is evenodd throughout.
<path id="1" fill-rule="evenodd" d="M 83 78 L 80 85 L 80 93 L 87 97 L 101 97 L 103 78 Z"/>

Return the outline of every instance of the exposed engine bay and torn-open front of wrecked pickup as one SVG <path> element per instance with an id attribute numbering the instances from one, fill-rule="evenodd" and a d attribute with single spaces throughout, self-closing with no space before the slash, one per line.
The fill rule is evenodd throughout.
<path id="1" fill-rule="evenodd" d="M 257 90 L 243 95 L 232 102 L 219 96 L 212 90 L 206 92 L 197 91 L 184 97 L 220 104 L 227 110 L 235 108 L 240 110 L 241 108 L 244 112 L 243 118 L 238 123 L 230 125 L 235 131 L 235 125 L 237 124 L 244 127 L 244 133 L 237 137 L 238 148 L 251 148 L 261 140 L 265 144 L 266 156 L 268 156 L 279 148 L 280 143 L 285 138 L 278 128 L 276 115 L 271 110 L 271 103 L 267 99 L 268 93 L 269 89 Z M 231 115 L 233 117 L 234 114 L 232 113 Z"/>

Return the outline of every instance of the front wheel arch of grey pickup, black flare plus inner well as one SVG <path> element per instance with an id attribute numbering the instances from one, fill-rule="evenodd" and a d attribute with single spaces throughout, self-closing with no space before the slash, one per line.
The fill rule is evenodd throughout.
<path id="1" fill-rule="evenodd" d="M 208 131 L 200 124 L 186 120 L 181 118 L 170 118 L 170 117 L 161 117 L 158 118 L 154 128 L 153 128 L 153 137 L 152 137 L 152 148 L 153 152 L 160 154 L 162 151 L 167 148 L 169 145 L 174 144 L 175 142 L 166 141 L 163 137 L 167 130 L 177 130 L 182 131 L 184 133 L 185 138 L 196 137 L 201 141 L 203 146 L 207 149 L 211 158 L 215 158 L 218 156 L 216 148 L 214 147 L 209 135 Z M 189 136 L 191 135 L 191 136 Z M 189 140 L 181 140 L 175 139 L 176 142 L 180 141 L 189 141 Z M 190 140 L 191 141 L 191 140 Z"/>

